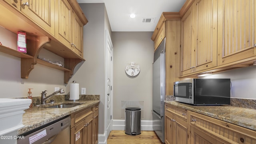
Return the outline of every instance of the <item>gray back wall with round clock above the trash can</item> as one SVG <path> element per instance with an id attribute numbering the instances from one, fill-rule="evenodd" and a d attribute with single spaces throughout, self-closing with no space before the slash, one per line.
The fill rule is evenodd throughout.
<path id="1" fill-rule="evenodd" d="M 152 120 L 152 63 L 154 42 L 150 39 L 153 32 L 112 32 L 114 46 L 114 108 L 113 119 L 121 116 L 122 101 L 144 101 L 142 120 Z M 140 73 L 137 77 L 128 77 L 126 64 L 137 62 Z"/>

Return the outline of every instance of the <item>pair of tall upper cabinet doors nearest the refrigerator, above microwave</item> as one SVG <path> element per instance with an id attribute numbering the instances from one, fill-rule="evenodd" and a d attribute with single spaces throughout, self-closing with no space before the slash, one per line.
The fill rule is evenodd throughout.
<path id="1" fill-rule="evenodd" d="M 217 0 L 195 0 L 181 20 L 181 75 L 217 66 Z"/>

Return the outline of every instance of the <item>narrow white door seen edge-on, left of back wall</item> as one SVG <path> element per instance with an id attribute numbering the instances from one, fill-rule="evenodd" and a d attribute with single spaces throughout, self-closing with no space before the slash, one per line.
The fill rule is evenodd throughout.
<path id="1" fill-rule="evenodd" d="M 112 130 L 112 75 L 113 75 L 113 45 L 106 30 L 106 94 L 105 94 L 105 130 L 107 132 L 107 137 Z"/>

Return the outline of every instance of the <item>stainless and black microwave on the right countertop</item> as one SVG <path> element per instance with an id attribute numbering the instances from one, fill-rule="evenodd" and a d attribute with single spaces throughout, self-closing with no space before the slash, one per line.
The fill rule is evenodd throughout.
<path id="1" fill-rule="evenodd" d="M 193 78 L 174 82 L 174 97 L 178 102 L 194 105 L 230 104 L 230 79 Z"/>

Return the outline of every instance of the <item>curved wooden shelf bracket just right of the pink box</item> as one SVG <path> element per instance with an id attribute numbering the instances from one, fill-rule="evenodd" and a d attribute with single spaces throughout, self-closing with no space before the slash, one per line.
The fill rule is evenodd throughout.
<path id="1" fill-rule="evenodd" d="M 51 40 L 47 36 L 27 36 L 27 50 L 30 56 L 33 58 L 21 58 L 20 69 L 21 78 L 28 78 L 29 73 L 37 63 L 37 57 L 40 50 L 45 44 L 48 44 Z"/>

